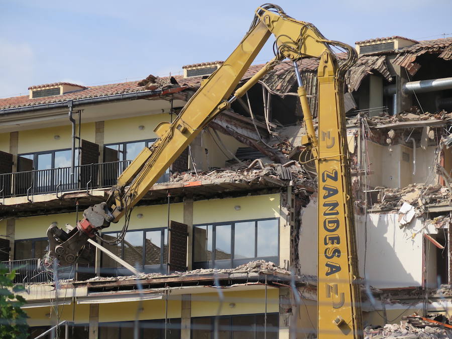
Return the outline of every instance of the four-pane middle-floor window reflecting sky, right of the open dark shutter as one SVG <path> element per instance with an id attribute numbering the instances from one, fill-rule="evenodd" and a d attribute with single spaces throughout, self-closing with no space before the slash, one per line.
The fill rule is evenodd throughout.
<path id="1" fill-rule="evenodd" d="M 214 249 L 214 251 L 213 251 Z M 278 219 L 193 227 L 193 268 L 232 268 L 256 259 L 279 263 Z"/>

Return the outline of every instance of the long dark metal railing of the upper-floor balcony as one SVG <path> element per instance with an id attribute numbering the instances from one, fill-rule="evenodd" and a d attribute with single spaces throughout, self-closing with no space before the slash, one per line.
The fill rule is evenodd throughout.
<path id="1" fill-rule="evenodd" d="M 110 187 L 130 160 L 0 174 L 0 198 Z"/>

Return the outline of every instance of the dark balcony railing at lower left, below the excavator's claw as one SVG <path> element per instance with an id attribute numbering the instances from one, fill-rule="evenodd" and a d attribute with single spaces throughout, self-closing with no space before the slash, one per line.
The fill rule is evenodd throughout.
<path id="1" fill-rule="evenodd" d="M 10 272 L 16 270 L 15 284 L 29 284 L 52 281 L 52 275 L 41 268 L 41 259 L 3 261 Z"/>

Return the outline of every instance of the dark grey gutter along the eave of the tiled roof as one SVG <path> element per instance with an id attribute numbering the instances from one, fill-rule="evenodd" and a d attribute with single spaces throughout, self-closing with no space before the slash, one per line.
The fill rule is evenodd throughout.
<path id="1" fill-rule="evenodd" d="M 165 95 L 171 93 L 177 93 L 184 89 L 188 88 L 188 86 L 180 86 L 175 88 L 169 88 L 166 90 L 156 89 L 156 90 L 146 90 L 132 93 L 122 93 L 122 94 L 112 94 L 112 95 L 104 95 L 97 96 L 92 98 L 83 98 L 83 99 L 68 99 L 64 101 L 52 102 L 52 103 L 43 103 L 38 105 L 30 105 L 24 107 L 14 107 L 14 108 L 4 108 L 0 109 L 0 116 L 22 113 L 22 112 L 30 112 L 30 111 L 38 111 L 38 110 L 46 110 L 46 109 L 55 109 L 55 108 L 67 108 L 68 101 L 72 101 L 73 106 L 81 106 L 87 104 L 96 104 L 96 103 L 105 103 L 105 102 L 114 102 L 121 100 L 137 100 L 143 99 L 151 96 Z"/>

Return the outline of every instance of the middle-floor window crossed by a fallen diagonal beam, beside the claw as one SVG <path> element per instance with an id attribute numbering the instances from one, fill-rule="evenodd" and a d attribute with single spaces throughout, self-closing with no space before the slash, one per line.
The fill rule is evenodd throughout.
<path id="1" fill-rule="evenodd" d="M 105 240 L 113 240 L 119 232 L 102 234 Z M 107 249 L 127 263 L 146 273 L 166 273 L 168 256 L 167 228 L 128 231 L 124 240 L 118 245 L 109 245 Z M 103 274 L 128 274 L 115 260 L 102 253 Z"/>

